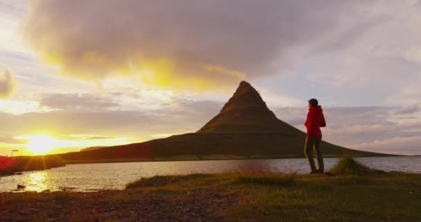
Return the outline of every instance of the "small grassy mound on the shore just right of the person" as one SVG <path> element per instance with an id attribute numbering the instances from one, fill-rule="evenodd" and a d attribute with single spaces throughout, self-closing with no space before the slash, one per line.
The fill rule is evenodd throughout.
<path id="1" fill-rule="evenodd" d="M 384 174 L 386 172 L 377 169 L 370 169 L 364 166 L 352 157 L 343 157 L 337 164 L 330 170 L 330 173 L 334 173 L 339 176 L 367 176 L 375 174 Z"/>

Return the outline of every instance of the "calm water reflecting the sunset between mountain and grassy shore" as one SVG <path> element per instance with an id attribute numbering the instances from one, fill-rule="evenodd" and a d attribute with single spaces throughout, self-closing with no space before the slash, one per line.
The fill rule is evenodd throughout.
<path id="1" fill-rule="evenodd" d="M 325 159 L 325 169 L 330 169 L 338 160 Z M 384 171 L 421 173 L 421 157 L 361 157 L 356 160 L 368 167 Z M 46 171 L 28 171 L 23 175 L 0 178 L 0 191 L 12 191 L 16 189 L 17 184 L 25 185 L 29 191 L 45 189 L 56 191 L 62 187 L 68 187 L 67 190 L 72 191 L 124 189 L 127 183 L 143 177 L 244 170 L 308 173 L 310 167 L 305 159 L 71 164 Z"/>

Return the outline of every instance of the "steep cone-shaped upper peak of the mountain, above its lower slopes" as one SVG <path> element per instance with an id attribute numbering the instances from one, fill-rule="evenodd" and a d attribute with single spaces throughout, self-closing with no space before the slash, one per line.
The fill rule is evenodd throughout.
<path id="1" fill-rule="evenodd" d="M 301 135 L 300 130 L 276 118 L 249 83 L 242 81 L 216 117 L 197 133 L 283 133 Z"/>

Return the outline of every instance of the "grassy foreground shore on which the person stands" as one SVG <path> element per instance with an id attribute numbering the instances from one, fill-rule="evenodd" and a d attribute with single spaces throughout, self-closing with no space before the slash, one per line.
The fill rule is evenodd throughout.
<path id="1" fill-rule="evenodd" d="M 336 176 L 155 176 L 121 191 L 0 194 L 0 221 L 420 221 L 421 175 L 346 158 Z"/>

